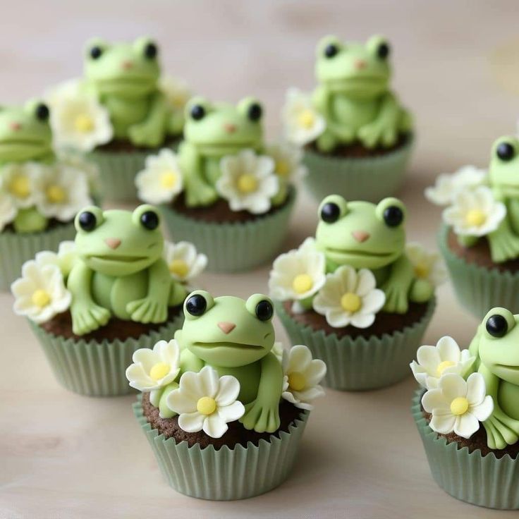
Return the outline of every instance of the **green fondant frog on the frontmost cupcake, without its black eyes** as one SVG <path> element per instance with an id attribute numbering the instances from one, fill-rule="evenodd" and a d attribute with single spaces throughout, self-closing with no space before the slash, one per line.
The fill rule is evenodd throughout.
<path id="1" fill-rule="evenodd" d="M 187 310 L 195 294 L 207 303 L 200 317 Z M 275 338 L 271 319 L 261 321 L 256 315 L 260 301 L 271 304 L 261 294 L 245 301 L 232 296 L 213 299 L 207 292 L 195 291 L 186 298 L 185 322 L 175 338 L 182 348 L 182 372 L 198 372 L 211 366 L 220 376 L 236 377 L 240 382 L 238 400 L 245 405 L 240 422 L 256 432 L 274 432 L 280 425 L 283 370 L 271 352 Z"/>

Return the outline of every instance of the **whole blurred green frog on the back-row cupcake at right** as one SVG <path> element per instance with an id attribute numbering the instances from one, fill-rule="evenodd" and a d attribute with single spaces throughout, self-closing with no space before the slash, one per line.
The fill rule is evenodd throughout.
<path id="1" fill-rule="evenodd" d="M 320 151 L 355 140 L 367 148 L 391 147 L 399 133 L 411 129 L 410 114 L 389 90 L 391 66 L 389 55 L 381 55 L 384 45 L 389 49 L 380 36 L 365 44 L 327 36 L 317 45 L 319 85 L 312 102 L 326 120 L 326 130 L 317 139 Z"/>

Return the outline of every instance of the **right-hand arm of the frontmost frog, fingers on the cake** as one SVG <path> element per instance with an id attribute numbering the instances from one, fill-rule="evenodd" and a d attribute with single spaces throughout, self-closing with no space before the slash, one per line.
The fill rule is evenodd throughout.
<path id="1" fill-rule="evenodd" d="M 262 358 L 262 374 L 256 399 L 245 405 L 245 415 L 240 422 L 245 429 L 256 432 L 275 432 L 279 429 L 279 399 L 283 390 L 283 370 L 274 353 Z"/>

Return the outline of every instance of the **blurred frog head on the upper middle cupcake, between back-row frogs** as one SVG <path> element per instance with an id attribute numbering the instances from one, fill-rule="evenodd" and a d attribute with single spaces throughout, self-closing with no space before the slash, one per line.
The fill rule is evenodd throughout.
<path id="1" fill-rule="evenodd" d="M 185 107 L 184 138 L 207 156 L 257 149 L 263 141 L 262 116 L 262 105 L 253 97 L 236 106 L 193 97 Z"/>

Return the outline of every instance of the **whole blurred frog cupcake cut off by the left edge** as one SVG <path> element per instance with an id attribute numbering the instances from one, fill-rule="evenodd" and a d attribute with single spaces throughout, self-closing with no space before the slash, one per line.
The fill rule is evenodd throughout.
<path id="1" fill-rule="evenodd" d="M 0 110 L 0 289 L 39 250 L 74 236 L 74 216 L 92 203 L 92 164 L 56 157 L 49 109 L 31 100 Z"/>

